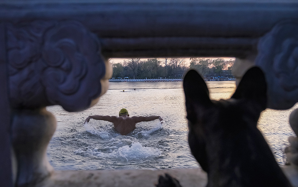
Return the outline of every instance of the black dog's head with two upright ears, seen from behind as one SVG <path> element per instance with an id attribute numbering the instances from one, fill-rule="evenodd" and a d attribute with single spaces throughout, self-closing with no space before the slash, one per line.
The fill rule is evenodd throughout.
<path id="1" fill-rule="evenodd" d="M 207 85 L 195 70 L 187 72 L 183 88 L 190 149 L 202 169 L 208 172 L 212 154 L 229 149 L 239 141 L 233 139 L 235 134 L 241 136 L 245 131 L 256 129 L 260 112 L 266 109 L 265 77 L 260 68 L 249 69 L 228 100 L 210 100 Z"/>

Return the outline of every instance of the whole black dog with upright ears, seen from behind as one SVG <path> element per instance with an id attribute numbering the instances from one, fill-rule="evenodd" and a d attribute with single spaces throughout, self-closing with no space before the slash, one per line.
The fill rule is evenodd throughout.
<path id="1" fill-rule="evenodd" d="M 257 129 L 267 100 L 260 68 L 246 72 L 231 99 L 210 100 L 195 70 L 187 72 L 183 88 L 188 143 L 208 174 L 207 186 L 291 186 Z"/>

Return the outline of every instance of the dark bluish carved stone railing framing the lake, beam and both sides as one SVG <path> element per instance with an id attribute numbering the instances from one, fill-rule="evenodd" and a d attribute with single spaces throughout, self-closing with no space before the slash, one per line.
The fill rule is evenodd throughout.
<path id="1" fill-rule="evenodd" d="M 111 75 L 106 58 L 171 56 L 236 57 L 239 79 L 260 66 L 268 107 L 288 109 L 298 102 L 298 2 L 2 0 L 2 185 L 34 186 L 51 176 L 45 152 L 56 122 L 45 107 L 94 105 Z M 291 126 L 297 133 L 297 112 Z M 288 171 L 298 164 L 295 138 Z"/>

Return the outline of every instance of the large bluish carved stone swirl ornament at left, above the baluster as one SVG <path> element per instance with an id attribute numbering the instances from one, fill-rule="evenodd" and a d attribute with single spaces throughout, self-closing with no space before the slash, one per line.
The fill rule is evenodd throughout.
<path id="1" fill-rule="evenodd" d="M 105 63 L 96 35 L 75 21 L 7 25 L 10 102 L 14 108 L 90 106 Z"/>

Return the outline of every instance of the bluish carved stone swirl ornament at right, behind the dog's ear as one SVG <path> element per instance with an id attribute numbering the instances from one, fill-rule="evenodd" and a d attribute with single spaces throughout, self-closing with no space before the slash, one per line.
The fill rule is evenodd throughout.
<path id="1" fill-rule="evenodd" d="M 298 21 L 283 21 L 264 35 L 255 62 L 266 74 L 269 108 L 298 102 Z"/>

